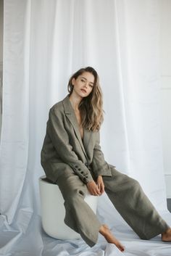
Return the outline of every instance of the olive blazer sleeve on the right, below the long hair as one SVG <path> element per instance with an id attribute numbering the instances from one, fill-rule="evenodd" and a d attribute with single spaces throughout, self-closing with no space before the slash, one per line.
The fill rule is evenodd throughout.
<path id="1" fill-rule="evenodd" d="M 104 160 L 104 154 L 100 146 L 100 133 L 96 133 L 96 144 L 93 149 L 93 160 L 91 163 L 93 173 L 98 176 L 112 176 L 108 163 Z"/>

